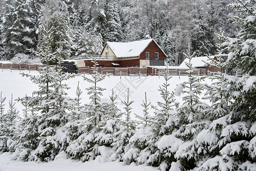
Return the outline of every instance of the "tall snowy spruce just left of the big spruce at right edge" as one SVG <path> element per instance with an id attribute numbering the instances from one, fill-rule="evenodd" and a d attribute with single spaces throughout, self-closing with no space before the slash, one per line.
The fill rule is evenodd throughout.
<path id="1" fill-rule="evenodd" d="M 227 39 L 223 35 L 223 32 L 216 35 L 219 40 L 219 43 L 216 44 L 218 54 L 208 56 L 208 64 L 212 67 L 218 68 L 218 71 L 209 72 L 209 74 L 212 75 L 209 76 L 209 79 L 212 79 L 212 84 L 205 84 L 206 93 L 205 96 L 202 97 L 203 99 L 208 99 L 211 103 L 210 107 L 204 110 L 204 117 L 205 120 L 208 120 L 208 123 L 204 125 L 204 129 L 200 129 L 199 133 L 194 135 L 196 136 L 196 139 L 193 140 L 195 142 L 188 141 L 191 144 L 188 142 L 185 143 L 185 145 L 189 144 L 188 146 L 193 145 L 193 152 L 197 151 L 198 153 L 195 153 L 194 155 L 196 166 L 201 166 L 203 161 L 212 158 L 212 155 L 216 154 L 220 150 L 220 146 L 218 146 L 218 137 L 221 136 L 223 123 L 219 123 L 219 121 L 222 122 L 227 119 L 226 115 L 230 112 L 229 104 L 232 101 L 232 92 L 227 88 L 229 86 L 226 84 L 229 76 L 220 72 L 223 71 L 228 64 L 228 62 L 225 62 L 228 56 L 225 54 L 227 48 L 225 41 Z M 194 121 L 194 125 L 196 124 L 197 121 Z M 194 129 L 194 131 L 196 131 L 196 129 Z M 182 153 L 182 150 L 179 153 Z M 179 161 L 177 164 L 182 165 L 184 162 Z"/>

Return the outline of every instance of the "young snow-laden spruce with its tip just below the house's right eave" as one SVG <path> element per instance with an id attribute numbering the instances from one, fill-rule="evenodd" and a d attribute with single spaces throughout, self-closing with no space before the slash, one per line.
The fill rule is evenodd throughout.
<path id="1" fill-rule="evenodd" d="M 147 135 L 146 148 L 141 150 L 140 157 L 137 158 L 140 164 L 147 163 L 152 166 L 160 166 L 161 170 L 169 168 L 170 163 L 174 160 L 173 153 L 177 150 L 175 142 L 180 143 L 172 135 L 173 131 L 178 129 L 179 119 L 176 116 L 178 104 L 174 98 L 174 92 L 170 92 L 168 89 L 171 78 L 168 74 L 168 68 L 163 73 L 163 77 L 165 82 L 159 87 L 162 101 L 158 101 L 156 106 L 152 105 L 155 112 L 151 122 L 149 122 L 151 133 Z M 166 143 L 166 139 L 173 141 Z"/>

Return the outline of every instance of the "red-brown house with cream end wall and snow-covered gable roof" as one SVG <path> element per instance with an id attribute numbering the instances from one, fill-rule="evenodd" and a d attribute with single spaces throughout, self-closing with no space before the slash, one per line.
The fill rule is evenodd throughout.
<path id="1" fill-rule="evenodd" d="M 111 62 L 111 66 L 105 67 L 142 68 L 164 66 L 166 54 L 154 39 L 145 39 L 133 42 L 107 42 L 100 57 L 106 64 Z"/>

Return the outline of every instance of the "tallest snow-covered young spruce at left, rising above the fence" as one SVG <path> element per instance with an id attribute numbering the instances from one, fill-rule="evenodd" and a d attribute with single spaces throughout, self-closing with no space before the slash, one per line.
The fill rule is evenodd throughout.
<path id="1" fill-rule="evenodd" d="M 58 51 L 52 53 L 50 43 L 51 30 L 46 27 L 42 28 L 46 33 L 43 36 L 45 40 L 44 46 L 39 48 L 35 54 L 47 65 L 40 68 L 38 76 L 22 74 L 22 76 L 29 77 L 39 87 L 38 91 L 33 92 L 36 96 L 28 97 L 29 103 L 34 106 L 35 115 L 37 116 L 32 124 L 37 125 L 37 127 L 36 130 L 27 129 L 27 131 L 32 131 L 29 132 L 29 135 L 33 133 L 36 135 L 37 133 L 38 137 L 32 141 L 36 144 L 32 144 L 30 149 L 23 149 L 22 151 L 27 151 L 25 156 L 29 156 L 28 158 L 30 160 L 49 161 L 54 160 L 56 154 L 60 150 L 65 150 L 67 146 L 67 137 L 61 137 L 61 135 L 65 131 L 64 125 L 68 121 L 67 111 L 70 109 L 72 99 L 67 97 L 65 90 L 68 87 L 63 82 L 73 78 L 75 75 L 63 73 L 61 67 L 56 69 L 55 67 L 49 66 L 51 59 L 59 59 L 59 64 L 61 63 L 62 46 L 60 44 Z M 31 119 L 27 119 L 26 121 L 30 122 Z M 31 124 L 29 123 L 28 125 Z M 24 140 L 27 141 L 27 137 L 23 137 Z M 26 146 L 26 144 L 22 144 L 21 146 Z M 32 151 L 33 153 L 31 153 Z"/>

